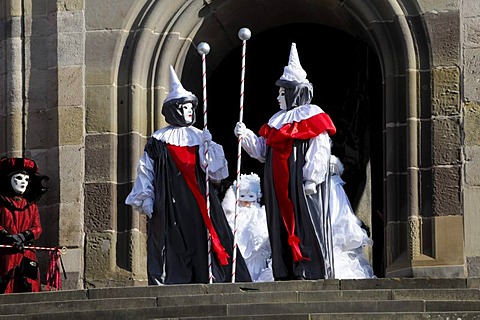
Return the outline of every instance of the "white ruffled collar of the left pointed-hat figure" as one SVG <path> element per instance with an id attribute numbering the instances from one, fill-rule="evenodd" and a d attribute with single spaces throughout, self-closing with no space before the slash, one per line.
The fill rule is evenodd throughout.
<path id="1" fill-rule="evenodd" d="M 173 127 L 167 126 L 152 134 L 157 140 L 181 147 L 198 146 L 202 143 L 202 131 L 196 127 Z"/>

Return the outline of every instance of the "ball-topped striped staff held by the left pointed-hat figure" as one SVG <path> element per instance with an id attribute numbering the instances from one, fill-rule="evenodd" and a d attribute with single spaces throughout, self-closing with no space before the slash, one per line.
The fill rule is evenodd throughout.
<path id="1" fill-rule="evenodd" d="M 210 45 L 206 42 L 200 42 L 197 46 L 197 52 L 202 56 L 202 82 L 203 82 L 203 131 L 207 130 L 207 59 L 206 56 L 210 52 Z M 207 212 L 210 217 L 210 188 L 208 177 L 208 141 L 205 141 L 205 197 L 207 200 Z M 208 238 L 208 282 L 213 283 L 212 272 L 212 237 L 207 229 Z"/>

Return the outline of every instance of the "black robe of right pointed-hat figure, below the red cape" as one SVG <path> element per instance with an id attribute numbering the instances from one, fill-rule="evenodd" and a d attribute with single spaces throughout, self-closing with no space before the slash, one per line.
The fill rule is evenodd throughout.
<path id="1" fill-rule="evenodd" d="M 295 262 L 288 243 L 285 227 L 274 184 L 265 184 L 264 197 L 267 212 L 268 232 L 272 247 L 272 269 L 275 280 L 333 278 L 333 247 L 328 204 L 324 201 L 326 182 L 317 186 L 317 193 L 306 196 L 303 190 L 302 169 L 305 165 L 307 140 L 294 142 L 295 153 L 288 159 L 290 168 L 288 192 L 294 206 L 295 235 L 300 239 L 300 251 L 305 258 Z M 267 148 L 264 180 L 272 181 L 272 149 Z M 296 161 L 294 160 L 296 159 Z M 328 179 L 326 180 L 328 181 Z M 329 262 L 330 261 L 330 262 Z"/>

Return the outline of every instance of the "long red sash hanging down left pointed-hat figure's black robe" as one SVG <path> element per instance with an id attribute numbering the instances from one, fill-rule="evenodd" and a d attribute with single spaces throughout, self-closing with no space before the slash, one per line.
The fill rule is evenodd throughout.
<path id="1" fill-rule="evenodd" d="M 222 266 L 228 265 L 228 255 L 227 251 L 223 247 L 220 239 L 218 238 L 217 232 L 213 227 L 212 220 L 208 216 L 207 202 L 205 196 L 200 191 L 198 187 L 198 181 L 195 175 L 196 167 L 196 153 L 195 147 L 181 147 L 167 144 L 168 151 L 170 152 L 175 164 L 177 165 L 178 170 L 182 173 L 185 181 L 187 182 L 188 187 L 193 193 L 195 200 L 197 201 L 200 212 L 202 213 L 203 222 L 212 237 L 212 248 L 215 254 L 217 255 L 218 261 Z"/>

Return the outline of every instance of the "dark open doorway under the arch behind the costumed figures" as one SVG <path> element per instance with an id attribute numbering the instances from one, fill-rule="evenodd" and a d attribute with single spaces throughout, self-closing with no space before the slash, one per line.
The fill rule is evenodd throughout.
<path id="1" fill-rule="evenodd" d="M 373 268 L 383 277 L 382 76 L 378 57 L 362 40 L 319 24 L 285 25 L 255 34 L 247 41 L 243 122 L 257 132 L 278 111 L 275 81 L 287 65 L 291 43 L 297 44 L 300 62 L 313 84 L 312 103 L 332 118 L 337 133 L 333 154 L 345 165 L 342 178 L 355 210 L 367 183 L 371 165 Z M 236 179 L 239 118 L 241 42 L 212 72 L 208 80 L 208 128 L 229 161 L 229 180 Z M 203 125 L 199 120 L 198 126 Z M 263 177 L 263 165 L 246 153 L 241 173 Z"/>

